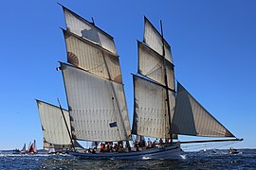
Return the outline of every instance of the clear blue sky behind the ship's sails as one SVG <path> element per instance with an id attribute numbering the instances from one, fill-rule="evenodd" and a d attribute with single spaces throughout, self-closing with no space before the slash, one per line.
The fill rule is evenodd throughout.
<path id="1" fill-rule="evenodd" d="M 58 60 L 65 61 L 63 4 L 115 38 L 130 117 L 131 73 L 137 72 L 137 40 L 143 16 L 172 45 L 175 77 L 239 138 L 236 147 L 256 147 L 256 2 L 193 1 L 52 1 L 1 2 L 0 149 L 21 148 L 43 132 L 36 99 L 66 101 Z"/>

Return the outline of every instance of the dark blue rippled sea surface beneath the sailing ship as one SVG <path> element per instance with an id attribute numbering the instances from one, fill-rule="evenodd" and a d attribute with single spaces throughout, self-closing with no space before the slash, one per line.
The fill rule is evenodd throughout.
<path id="1" fill-rule="evenodd" d="M 256 169 L 256 150 L 227 150 L 186 152 L 174 161 L 78 160 L 73 156 L 42 154 L 13 154 L 0 151 L 0 169 Z"/>

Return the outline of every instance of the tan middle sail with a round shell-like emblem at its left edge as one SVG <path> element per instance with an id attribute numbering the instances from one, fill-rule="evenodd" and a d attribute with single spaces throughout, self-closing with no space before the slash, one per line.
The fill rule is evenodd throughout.
<path id="1" fill-rule="evenodd" d="M 69 63 L 97 76 L 122 82 L 118 56 L 65 30 L 64 38 Z"/>

